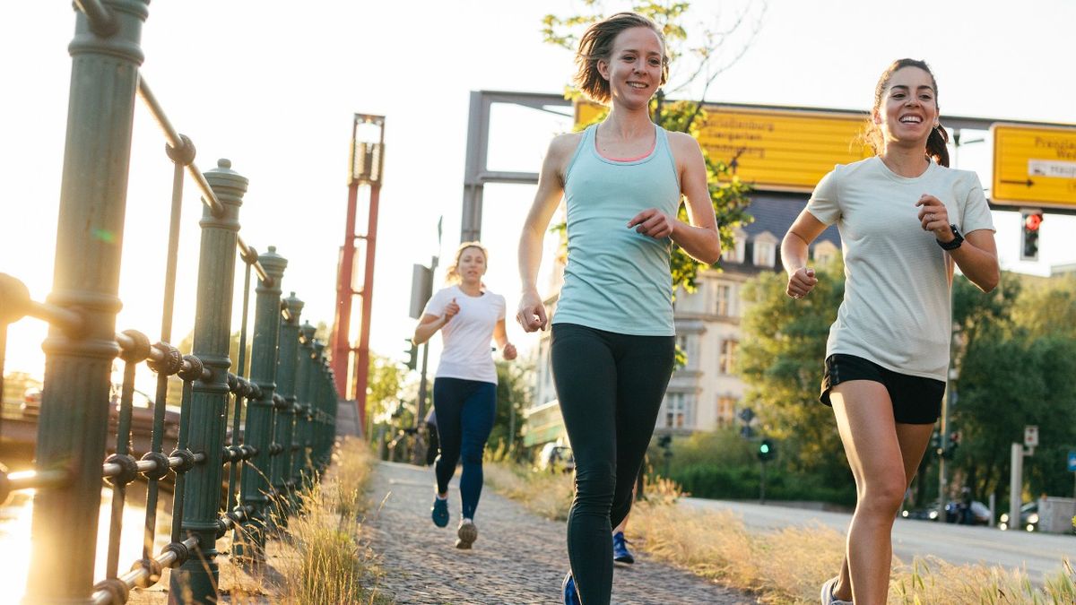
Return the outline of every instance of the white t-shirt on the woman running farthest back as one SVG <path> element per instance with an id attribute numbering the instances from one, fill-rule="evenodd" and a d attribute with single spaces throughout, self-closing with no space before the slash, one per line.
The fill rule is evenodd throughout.
<path id="1" fill-rule="evenodd" d="M 455 299 L 459 312 L 441 328 L 441 361 L 437 378 L 462 378 L 497 383 L 490 342 L 493 328 L 505 319 L 505 297 L 489 290 L 481 296 L 468 296 L 458 285 L 437 291 L 426 302 L 425 314 L 442 315 L 444 307 Z"/>

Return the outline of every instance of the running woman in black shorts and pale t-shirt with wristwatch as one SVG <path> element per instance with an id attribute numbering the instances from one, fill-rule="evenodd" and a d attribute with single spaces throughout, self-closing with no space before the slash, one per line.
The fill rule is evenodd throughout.
<path id="1" fill-rule="evenodd" d="M 946 388 L 953 263 L 983 292 L 1000 278 L 990 208 L 974 172 L 948 168 L 925 62 L 901 59 L 882 73 L 868 139 L 877 155 L 826 174 L 781 242 L 796 299 L 818 283 L 807 251 L 826 226 L 837 224 L 845 256 L 820 398 L 836 416 L 856 504 L 824 605 L 886 603 L 893 520 Z"/>

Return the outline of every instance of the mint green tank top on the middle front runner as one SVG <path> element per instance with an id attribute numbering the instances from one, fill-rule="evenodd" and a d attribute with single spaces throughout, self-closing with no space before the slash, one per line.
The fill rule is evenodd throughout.
<path id="1" fill-rule="evenodd" d="M 680 180 L 664 128 L 649 155 L 627 161 L 598 154 L 597 125 L 583 131 L 568 164 L 568 264 L 553 323 L 636 336 L 675 336 L 670 238 L 635 233 L 648 208 L 676 216 Z"/>

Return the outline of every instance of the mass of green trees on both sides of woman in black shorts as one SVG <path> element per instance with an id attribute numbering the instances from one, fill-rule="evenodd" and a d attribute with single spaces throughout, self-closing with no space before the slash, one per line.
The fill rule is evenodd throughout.
<path id="1" fill-rule="evenodd" d="M 748 405 L 766 434 L 782 439 L 782 464 L 850 480 L 829 408 L 818 404 L 829 326 L 843 297 L 840 264 L 818 267 L 819 284 L 803 300 L 784 295 L 781 273 L 763 273 L 745 286 L 751 304 L 744 318 L 739 369 L 749 385 Z M 1024 459 L 1028 496 L 1067 495 L 1072 475 L 1065 453 L 1076 449 L 1076 296 L 1073 282 L 1023 286 L 1003 272 L 983 294 L 963 277 L 953 283 L 958 326 L 953 362 L 959 367 L 949 431 L 961 433 L 950 467 L 954 489 L 976 498 L 1007 498 L 1010 444 L 1023 426 L 1038 425 L 1039 447 Z M 920 475 L 937 464 L 924 458 Z M 926 486 L 928 495 L 934 486 Z"/>

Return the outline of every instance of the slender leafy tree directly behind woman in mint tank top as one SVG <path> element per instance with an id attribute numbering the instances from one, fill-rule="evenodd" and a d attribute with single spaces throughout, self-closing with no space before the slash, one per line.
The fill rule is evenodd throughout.
<path id="1" fill-rule="evenodd" d="M 607 14 L 603 3 L 598 0 L 584 0 L 583 6 L 586 11 L 585 14 L 563 18 L 556 15 L 546 15 L 542 19 L 542 34 L 546 42 L 572 50 L 578 42 L 577 32 Z M 766 10 L 765 2 L 748 3 L 746 6 L 745 10 L 735 16 L 731 25 L 724 28 L 714 26 L 713 28 L 704 29 L 696 37 L 698 43 L 692 47 L 688 47 L 689 33 L 683 23 L 689 14 L 690 2 L 633 1 L 631 3 L 632 10 L 650 17 L 662 29 L 666 40 L 666 53 L 669 56 L 671 66 L 676 66 L 676 59 L 682 57 L 684 54 L 690 54 L 696 59 L 694 67 L 686 76 L 676 79 L 679 84 L 674 84 L 670 80 L 667 86 L 674 93 L 683 90 L 692 85 L 700 87 L 702 92 L 698 95 L 698 99 L 695 101 L 670 101 L 666 98 L 664 88 L 659 90 L 651 101 L 651 114 L 654 123 L 666 130 L 686 132 L 695 138 L 698 137 L 698 126 L 706 121 L 704 103 L 710 85 L 718 75 L 744 55 L 750 46 L 751 39 L 753 39 L 761 27 L 762 14 Z M 751 9 L 760 6 L 761 10 L 758 10 L 756 19 L 751 22 L 751 17 L 754 16 L 754 12 Z M 722 61 L 723 55 L 721 51 L 725 48 L 726 44 L 732 44 L 736 40 L 735 34 L 744 32 L 744 28 L 747 28 L 749 24 L 752 28 L 748 32 L 748 40 L 742 43 L 742 46 L 731 59 Z M 579 92 L 569 88 L 566 96 L 568 98 L 577 98 L 579 97 Z M 597 116 L 596 121 L 604 117 L 605 113 L 603 112 Z M 748 198 L 750 186 L 736 177 L 736 158 L 711 158 L 706 153 L 706 150 L 703 151 L 703 156 L 706 160 L 707 181 L 709 183 L 710 199 L 713 205 L 713 214 L 718 220 L 721 235 L 721 247 L 724 250 L 728 250 L 734 245 L 736 228 L 752 221 L 747 212 L 747 207 L 750 203 L 750 199 Z M 682 221 L 686 221 L 688 219 L 686 209 L 682 206 L 678 217 Z M 556 225 L 553 228 L 563 229 L 564 225 Z M 683 287 L 686 292 L 694 292 L 698 269 L 700 266 L 703 268 L 706 267 L 706 265 L 700 265 L 678 247 L 674 248 L 670 266 L 674 291 L 677 287 Z M 713 268 L 720 268 L 720 262 L 714 264 Z"/>

